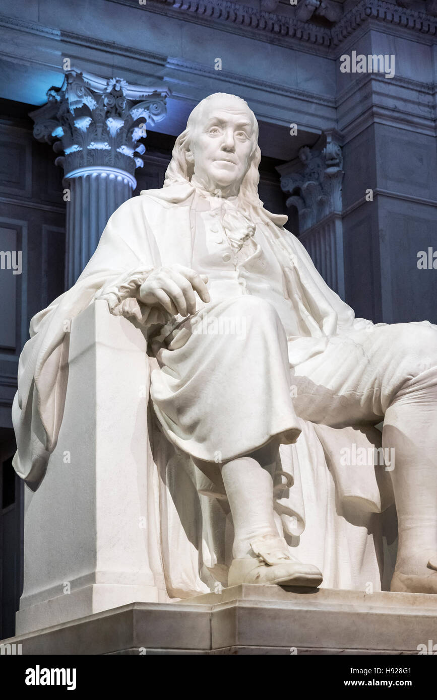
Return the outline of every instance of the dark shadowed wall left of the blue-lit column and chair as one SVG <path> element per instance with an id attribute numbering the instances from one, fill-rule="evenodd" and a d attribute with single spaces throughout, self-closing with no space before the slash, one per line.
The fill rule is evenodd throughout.
<path id="1" fill-rule="evenodd" d="M 24 484 L 11 463 L 18 358 L 32 316 L 64 291 L 62 172 L 32 135 L 31 109 L 0 100 L 0 251 L 17 254 L 12 262 L 22 253 L 21 274 L 6 257 L 0 267 L 0 639 L 15 633 L 22 590 Z"/>

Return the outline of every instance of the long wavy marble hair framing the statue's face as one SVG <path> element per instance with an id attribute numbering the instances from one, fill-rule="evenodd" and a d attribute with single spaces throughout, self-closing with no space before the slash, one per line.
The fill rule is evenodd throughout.
<path id="1" fill-rule="evenodd" d="M 237 97 L 235 94 L 228 94 L 226 92 L 214 92 L 213 94 L 208 95 L 208 97 L 202 99 L 202 101 L 199 102 L 199 104 L 197 104 L 190 113 L 186 130 L 183 131 L 179 137 L 177 137 L 174 144 L 172 160 L 169 162 L 169 167 L 167 167 L 165 172 L 164 187 L 169 187 L 170 185 L 175 185 L 178 183 L 186 184 L 187 182 L 190 182 L 194 173 L 194 168 L 193 165 L 188 162 L 186 154 L 190 148 L 190 141 L 193 137 L 195 121 L 197 120 L 197 117 L 200 116 L 204 104 L 209 102 L 209 100 L 211 100 L 213 97 L 221 97 L 223 99 L 232 98 L 238 100 L 238 102 L 242 102 L 244 106 L 246 106 L 251 114 L 254 124 L 254 135 L 252 137 L 254 139 L 254 148 L 251 153 L 249 169 L 243 178 L 240 188 L 240 201 L 243 205 L 246 205 L 248 209 L 251 207 L 262 207 L 263 202 L 261 202 L 260 198 L 258 197 L 258 166 L 261 161 L 261 151 L 258 146 L 258 122 L 256 121 L 254 113 L 249 108 L 249 105 L 244 99 L 242 99 L 242 97 Z"/>

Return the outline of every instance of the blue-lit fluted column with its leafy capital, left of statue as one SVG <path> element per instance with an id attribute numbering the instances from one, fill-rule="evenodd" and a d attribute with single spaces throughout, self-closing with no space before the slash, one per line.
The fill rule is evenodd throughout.
<path id="1" fill-rule="evenodd" d="M 146 124 L 167 113 L 167 88 L 129 85 L 76 70 L 61 87 L 48 90 L 48 102 L 30 113 L 34 136 L 53 144 L 56 165 L 64 168 L 67 200 L 66 288 L 94 253 L 114 211 L 132 196 L 134 172 L 146 150 L 137 144 Z"/>

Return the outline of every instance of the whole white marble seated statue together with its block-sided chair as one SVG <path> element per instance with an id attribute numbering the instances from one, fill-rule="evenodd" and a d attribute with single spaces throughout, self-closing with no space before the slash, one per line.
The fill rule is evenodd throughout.
<path id="1" fill-rule="evenodd" d="M 84 595 L 96 612 L 227 582 L 378 591 L 393 493 L 391 589 L 436 591 L 437 328 L 355 318 L 259 200 L 257 138 L 239 97 L 200 103 L 165 187 L 125 202 L 32 319 L 13 407 L 14 466 L 38 487 L 20 629 L 46 603 L 72 619 Z M 196 314 L 244 321 L 244 344 L 197 334 Z M 370 462 L 343 462 L 349 447 Z"/>

